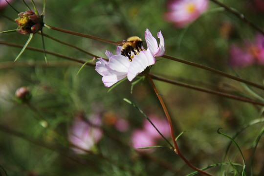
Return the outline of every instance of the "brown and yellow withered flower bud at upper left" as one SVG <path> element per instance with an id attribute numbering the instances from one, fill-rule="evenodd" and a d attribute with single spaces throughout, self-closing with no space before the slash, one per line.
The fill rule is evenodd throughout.
<path id="1" fill-rule="evenodd" d="M 18 24 L 17 32 L 21 34 L 37 33 L 43 27 L 43 19 L 33 11 L 21 12 L 15 20 Z"/>

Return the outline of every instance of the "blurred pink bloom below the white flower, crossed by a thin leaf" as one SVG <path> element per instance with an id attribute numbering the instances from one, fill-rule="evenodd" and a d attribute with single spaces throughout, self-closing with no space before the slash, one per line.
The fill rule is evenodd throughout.
<path id="1" fill-rule="evenodd" d="M 170 126 L 167 119 L 160 119 L 155 115 L 150 115 L 149 118 L 159 132 L 165 137 L 170 135 Z M 162 139 L 162 136 L 154 129 L 147 119 L 145 119 L 142 129 L 137 129 L 132 132 L 132 145 L 135 149 L 155 146 L 159 139 Z M 145 150 L 139 151 L 143 152 Z"/>

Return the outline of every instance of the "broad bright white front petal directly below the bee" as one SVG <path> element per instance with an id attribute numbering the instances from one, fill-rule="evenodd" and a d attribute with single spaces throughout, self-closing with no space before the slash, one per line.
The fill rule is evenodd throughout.
<path id="1" fill-rule="evenodd" d="M 132 81 L 138 73 L 144 71 L 148 66 L 154 65 L 156 59 L 148 50 L 141 51 L 132 59 L 128 70 L 128 80 Z"/>

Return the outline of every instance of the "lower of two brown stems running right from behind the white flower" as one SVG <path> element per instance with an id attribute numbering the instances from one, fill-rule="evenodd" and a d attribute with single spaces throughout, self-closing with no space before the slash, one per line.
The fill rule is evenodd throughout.
<path id="1" fill-rule="evenodd" d="M 222 97 L 231 98 L 231 99 L 234 99 L 234 100 L 251 103 L 253 105 L 264 106 L 264 103 L 257 102 L 257 101 L 254 101 L 254 100 L 250 100 L 250 99 L 247 99 L 247 98 L 244 98 L 244 97 L 238 97 L 238 96 L 234 96 L 234 95 L 231 95 L 231 94 L 228 94 L 228 93 L 222 93 L 222 92 L 219 92 L 219 91 L 208 90 L 208 89 L 205 89 L 205 88 L 198 88 L 196 86 L 191 86 L 191 85 L 180 83 L 180 82 L 177 82 L 177 81 L 171 81 L 171 80 L 168 80 L 168 79 L 160 78 L 160 77 L 152 75 L 152 74 L 150 74 L 150 76 L 153 79 L 155 79 L 155 80 L 163 81 L 163 82 L 170 83 L 170 84 L 173 84 L 173 85 L 182 86 L 182 87 L 185 87 L 185 88 L 191 88 L 191 89 L 194 89 L 194 90 L 198 90 L 198 91 L 202 91 L 202 92 L 206 92 L 206 93 L 210 93 L 210 94 L 220 95 Z"/>

